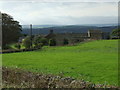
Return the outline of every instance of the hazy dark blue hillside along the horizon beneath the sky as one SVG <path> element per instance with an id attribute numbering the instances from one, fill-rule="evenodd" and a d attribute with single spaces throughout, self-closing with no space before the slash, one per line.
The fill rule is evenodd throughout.
<path id="1" fill-rule="evenodd" d="M 111 32 L 117 26 L 82 26 L 82 25 L 34 25 L 33 34 L 48 34 L 49 30 L 54 30 L 55 33 L 86 33 L 90 29 L 101 30 L 102 32 Z M 22 33 L 29 34 L 29 26 L 23 26 Z"/>

